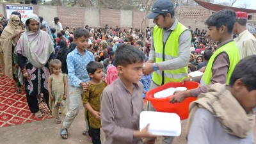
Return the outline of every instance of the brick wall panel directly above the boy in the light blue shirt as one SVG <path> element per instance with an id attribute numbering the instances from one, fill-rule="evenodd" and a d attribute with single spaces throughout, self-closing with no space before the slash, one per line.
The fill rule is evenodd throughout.
<path id="1" fill-rule="evenodd" d="M 63 28 L 84 26 L 84 8 L 58 6 L 58 17 Z"/>

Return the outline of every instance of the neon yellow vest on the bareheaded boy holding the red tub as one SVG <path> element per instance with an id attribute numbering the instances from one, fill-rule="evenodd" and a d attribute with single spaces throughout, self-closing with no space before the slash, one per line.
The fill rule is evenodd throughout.
<path id="1" fill-rule="evenodd" d="M 217 56 L 221 53 L 221 52 L 225 52 L 228 55 L 228 59 L 229 59 L 229 67 L 228 67 L 228 72 L 227 72 L 227 79 L 226 79 L 226 83 L 229 84 L 229 80 L 230 80 L 230 76 L 234 70 L 234 68 L 236 67 L 236 64 L 239 62 L 240 57 L 239 57 L 239 50 L 236 46 L 236 44 L 232 41 L 232 42 L 228 42 L 228 44 L 222 45 L 220 48 L 218 48 L 211 56 L 207 67 L 205 69 L 204 75 L 201 78 L 200 84 L 201 86 L 207 85 L 209 83 L 211 83 L 211 79 L 212 79 L 212 65 L 215 61 L 216 58 L 218 58 Z"/>

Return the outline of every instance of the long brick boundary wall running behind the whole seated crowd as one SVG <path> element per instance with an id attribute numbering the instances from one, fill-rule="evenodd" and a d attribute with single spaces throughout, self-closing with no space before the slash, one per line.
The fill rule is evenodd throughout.
<path id="1" fill-rule="evenodd" d="M 33 12 L 38 15 L 39 13 L 49 13 L 48 15 L 44 15 L 44 19 L 48 19 L 52 21 L 53 17 L 58 17 L 60 18 L 60 22 L 63 25 L 63 28 L 66 26 L 69 26 L 70 28 L 72 27 L 81 27 L 84 26 L 85 23 L 85 14 L 86 15 L 93 15 L 92 13 L 85 13 L 87 8 L 77 8 L 77 7 L 65 7 L 65 6 L 47 6 L 47 11 L 45 12 L 45 8 L 39 8 L 37 5 L 29 5 L 29 4 L 13 4 L 13 5 L 28 5 L 28 6 L 33 6 Z M 4 10 L 5 4 L 1 3 L 0 4 L 0 12 L 1 10 Z M 40 6 L 42 7 L 42 6 Z M 45 6 L 46 7 L 46 6 Z M 56 12 L 56 8 L 58 9 Z M 55 11 L 56 13 L 54 15 L 51 15 L 51 10 L 52 12 Z M 88 10 L 88 9 L 87 9 Z M 97 9 L 99 12 L 99 17 L 100 22 L 96 22 L 97 26 L 100 25 L 101 28 L 104 28 L 106 24 L 108 24 L 109 28 L 115 28 L 116 26 L 119 26 L 119 28 L 122 29 L 130 29 L 131 27 L 121 27 L 121 11 L 120 10 L 107 10 L 107 9 Z M 175 11 L 175 17 L 178 17 L 178 10 Z M 90 10 L 89 10 L 90 11 Z M 193 29 L 195 28 L 200 28 L 200 29 L 207 29 L 205 27 L 204 21 L 211 15 L 212 11 L 207 10 L 206 8 L 202 6 L 182 6 L 180 10 L 180 22 L 184 24 L 185 26 L 191 26 Z M 6 12 L 4 13 L 6 14 Z M 56 15 L 57 14 L 57 15 Z M 252 19 L 256 19 L 256 14 L 248 14 L 248 15 L 253 15 Z M 48 17 L 47 17 L 48 16 Z M 6 17 L 6 15 L 4 15 Z M 133 11 L 132 12 L 132 28 L 141 28 L 141 22 L 144 17 L 144 12 L 138 12 L 138 11 Z M 127 19 L 126 19 L 127 20 Z M 48 23 L 51 23 L 49 21 Z M 124 22 L 124 21 L 123 21 Z M 100 24 L 99 24 L 100 23 Z M 95 25 L 96 26 L 96 25 Z M 149 22 L 147 20 L 147 26 L 154 26 L 152 22 Z M 92 27 L 93 22 L 92 22 Z"/>

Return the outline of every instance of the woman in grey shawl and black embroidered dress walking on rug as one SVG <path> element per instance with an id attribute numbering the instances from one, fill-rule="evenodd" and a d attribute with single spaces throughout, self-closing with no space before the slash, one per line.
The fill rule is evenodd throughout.
<path id="1" fill-rule="evenodd" d="M 28 15 L 25 22 L 26 31 L 17 44 L 19 79 L 24 77 L 26 98 L 31 113 L 42 116 L 37 97 L 44 94 L 49 104 L 47 77 L 50 75 L 48 61 L 54 59 L 53 42 L 50 36 L 40 30 L 40 20 L 35 14 Z"/>

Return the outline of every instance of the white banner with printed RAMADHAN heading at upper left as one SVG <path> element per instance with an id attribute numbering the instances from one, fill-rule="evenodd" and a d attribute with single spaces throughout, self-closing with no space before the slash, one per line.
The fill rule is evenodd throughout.
<path id="1" fill-rule="evenodd" d="M 7 18 L 10 19 L 12 12 L 19 12 L 22 22 L 25 22 L 28 15 L 33 14 L 33 6 L 6 5 Z"/>

